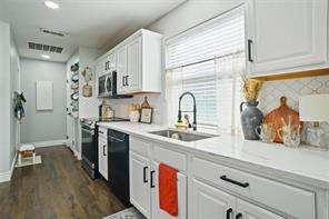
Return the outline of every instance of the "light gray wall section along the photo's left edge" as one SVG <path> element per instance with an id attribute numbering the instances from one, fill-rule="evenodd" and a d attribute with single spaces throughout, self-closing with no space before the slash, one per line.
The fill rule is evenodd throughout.
<path id="1" fill-rule="evenodd" d="M 19 56 L 10 26 L 0 21 L 0 181 L 4 180 L 3 175 L 9 177 L 17 151 L 18 122 L 12 93 L 20 90 L 19 74 Z"/>

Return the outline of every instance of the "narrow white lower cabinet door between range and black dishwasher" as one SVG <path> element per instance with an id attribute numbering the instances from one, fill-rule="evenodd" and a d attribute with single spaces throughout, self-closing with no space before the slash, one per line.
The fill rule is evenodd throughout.
<path id="1" fill-rule="evenodd" d="M 98 171 L 108 180 L 108 143 L 103 138 L 98 138 Z"/>

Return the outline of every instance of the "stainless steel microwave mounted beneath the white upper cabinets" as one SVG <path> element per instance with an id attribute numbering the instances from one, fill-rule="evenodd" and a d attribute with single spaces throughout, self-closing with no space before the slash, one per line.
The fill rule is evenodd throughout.
<path id="1" fill-rule="evenodd" d="M 98 78 L 98 97 L 117 94 L 117 72 L 112 71 Z"/>

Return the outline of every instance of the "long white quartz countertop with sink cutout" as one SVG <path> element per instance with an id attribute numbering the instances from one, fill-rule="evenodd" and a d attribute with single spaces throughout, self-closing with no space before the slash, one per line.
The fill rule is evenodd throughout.
<path id="1" fill-rule="evenodd" d="M 205 152 L 267 169 L 273 173 L 302 180 L 301 182 L 329 189 L 329 151 L 301 147 L 287 148 L 279 143 L 249 141 L 231 136 L 218 136 L 193 142 L 186 142 L 148 133 L 168 127 L 131 122 L 99 122 L 100 127 L 114 129 L 132 136 L 162 141 L 185 150 Z"/>

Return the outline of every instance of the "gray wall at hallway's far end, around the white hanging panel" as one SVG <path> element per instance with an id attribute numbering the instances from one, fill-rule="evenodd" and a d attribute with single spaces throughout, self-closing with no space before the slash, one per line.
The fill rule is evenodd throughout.
<path id="1" fill-rule="evenodd" d="M 53 83 L 53 110 L 37 111 L 36 81 Z M 21 87 L 27 98 L 26 118 L 21 126 L 21 142 L 66 139 L 66 64 L 21 59 Z"/>

